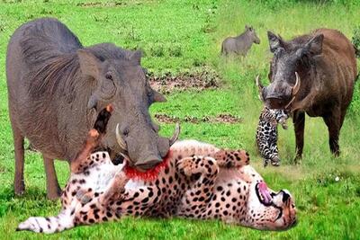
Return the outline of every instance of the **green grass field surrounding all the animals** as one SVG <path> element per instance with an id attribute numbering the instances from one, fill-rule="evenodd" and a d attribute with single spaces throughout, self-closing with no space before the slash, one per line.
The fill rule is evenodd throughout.
<path id="1" fill-rule="evenodd" d="M 5 2 L 5 3 L 4 3 Z M 261 102 L 254 78 L 265 80 L 271 55 L 266 31 L 285 39 L 319 27 L 335 28 L 347 37 L 360 25 L 354 1 L 202 0 L 202 1 L 4 1 L 0 3 L 0 239 L 359 239 L 360 237 L 360 90 L 340 135 L 341 156 L 329 153 L 328 131 L 320 119 L 307 118 L 302 164 L 293 164 L 294 134 L 279 129 L 282 166 L 262 167 L 255 147 L 255 131 Z M 60 3 L 58 3 L 60 2 Z M 326 4 L 324 4 L 326 3 Z M 7 111 L 5 51 L 14 30 L 31 19 L 53 16 L 65 22 L 84 45 L 114 42 L 126 49 L 143 49 L 142 65 L 161 75 L 215 69 L 223 84 L 216 90 L 170 93 L 166 103 L 155 104 L 151 113 L 176 117 L 202 117 L 231 113 L 243 119 L 237 124 L 183 123 L 181 138 L 196 138 L 220 147 L 243 147 L 252 164 L 274 190 L 293 193 L 299 224 L 284 232 L 257 231 L 219 221 L 178 218 L 124 218 L 116 223 L 76 227 L 52 236 L 15 232 L 30 216 L 58 213 L 59 202 L 46 199 L 45 173 L 40 155 L 26 152 L 23 197 L 14 196 L 14 146 Z M 251 24 L 261 39 L 247 58 L 220 57 L 220 43 Z M 169 136 L 174 124 L 162 124 Z M 58 179 L 67 182 L 68 166 L 56 162 Z M 339 181 L 335 178 L 339 177 Z"/>

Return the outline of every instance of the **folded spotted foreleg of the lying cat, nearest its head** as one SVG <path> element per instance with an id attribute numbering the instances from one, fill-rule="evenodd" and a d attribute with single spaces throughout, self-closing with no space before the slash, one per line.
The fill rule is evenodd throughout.
<path id="1" fill-rule="evenodd" d="M 221 149 L 213 156 L 220 167 L 232 168 L 249 164 L 250 156 L 245 150 Z"/>

